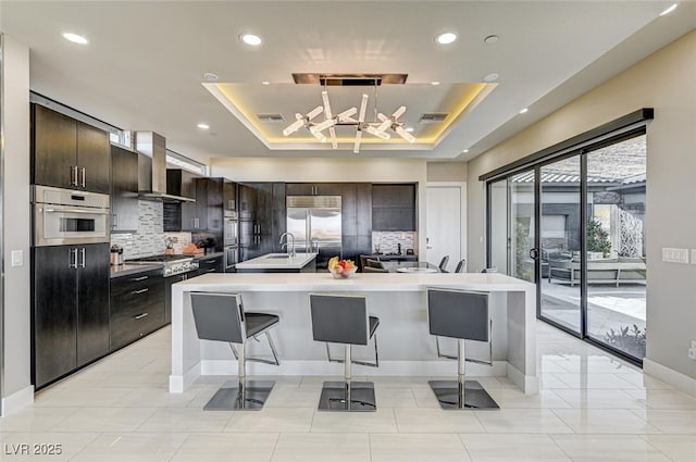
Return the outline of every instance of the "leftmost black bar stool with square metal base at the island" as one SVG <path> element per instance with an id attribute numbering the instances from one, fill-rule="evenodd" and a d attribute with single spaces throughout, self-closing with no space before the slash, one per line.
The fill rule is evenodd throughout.
<path id="1" fill-rule="evenodd" d="M 279 365 L 277 352 L 269 329 L 278 324 L 275 314 L 245 312 L 238 294 L 191 292 L 191 309 L 198 338 L 226 341 L 238 361 L 238 382 L 225 382 L 203 407 L 206 411 L 258 411 L 263 408 L 275 382 L 247 380 L 246 362 L 256 361 Z M 248 338 L 265 334 L 273 360 L 247 358 Z M 257 339 L 258 340 L 258 339 Z M 234 344 L 239 345 L 239 351 Z"/>

